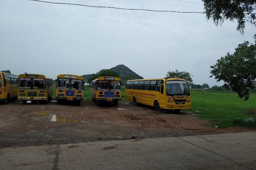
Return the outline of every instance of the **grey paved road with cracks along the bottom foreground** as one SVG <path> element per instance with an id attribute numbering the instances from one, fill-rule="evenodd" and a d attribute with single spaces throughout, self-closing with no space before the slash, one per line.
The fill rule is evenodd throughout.
<path id="1" fill-rule="evenodd" d="M 256 132 L 3 148 L 0 169 L 256 169 Z"/>

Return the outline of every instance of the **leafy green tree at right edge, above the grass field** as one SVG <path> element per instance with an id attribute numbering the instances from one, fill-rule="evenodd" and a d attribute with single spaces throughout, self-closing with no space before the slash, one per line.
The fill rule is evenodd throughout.
<path id="1" fill-rule="evenodd" d="M 250 91 L 256 92 L 256 45 L 248 41 L 239 44 L 233 54 L 227 53 L 211 68 L 210 77 L 214 76 L 217 82 L 223 80 L 223 86 L 237 92 L 240 98 L 248 100 Z"/>

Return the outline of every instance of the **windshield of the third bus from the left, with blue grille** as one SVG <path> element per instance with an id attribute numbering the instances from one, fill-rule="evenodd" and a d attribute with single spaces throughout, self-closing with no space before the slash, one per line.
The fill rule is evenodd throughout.
<path id="1" fill-rule="evenodd" d="M 58 78 L 57 88 L 83 90 L 83 81 L 78 79 Z"/>

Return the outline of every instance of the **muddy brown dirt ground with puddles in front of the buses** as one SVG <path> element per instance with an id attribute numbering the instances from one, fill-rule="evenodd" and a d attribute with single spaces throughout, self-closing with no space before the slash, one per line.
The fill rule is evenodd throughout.
<path id="1" fill-rule="evenodd" d="M 0 110 L 0 148 L 254 131 L 211 128 L 186 110 L 158 113 L 127 101 L 96 106 L 88 100 L 81 105 L 58 105 L 55 99 L 47 104 L 14 100 L 0 104 Z"/>

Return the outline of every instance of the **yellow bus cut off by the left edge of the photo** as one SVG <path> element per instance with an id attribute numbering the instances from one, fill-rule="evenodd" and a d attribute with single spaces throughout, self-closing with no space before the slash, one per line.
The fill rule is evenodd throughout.
<path id="1" fill-rule="evenodd" d="M 17 75 L 0 72 L 0 101 L 5 104 L 17 98 Z"/>

